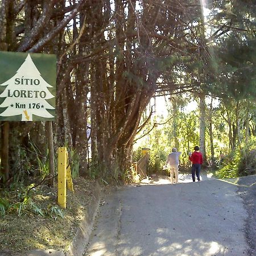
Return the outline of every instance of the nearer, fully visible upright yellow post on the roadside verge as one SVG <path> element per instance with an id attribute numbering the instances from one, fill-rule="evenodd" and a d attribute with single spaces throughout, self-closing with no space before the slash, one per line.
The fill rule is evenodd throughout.
<path id="1" fill-rule="evenodd" d="M 67 147 L 58 148 L 58 204 L 66 208 L 67 202 Z"/>

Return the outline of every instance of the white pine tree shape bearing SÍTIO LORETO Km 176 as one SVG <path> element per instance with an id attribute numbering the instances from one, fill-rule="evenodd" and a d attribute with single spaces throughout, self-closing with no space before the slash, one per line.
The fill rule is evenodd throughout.
<path id="1" fill-rule="evenodd" d="M 22 115 L 21 121 L 33 121 L 33 115 L 54 117 L 47 111 L 55 109 L 47 102 L 55 97 L 48 90 L 53 86 L 43 79 L 29 53 L 15 75 L 0 86 L 5 86 L 0 94 L 0 98 L 5 98 L 0 108 L 6 108 L 0 114 L 2 117 Z"/>

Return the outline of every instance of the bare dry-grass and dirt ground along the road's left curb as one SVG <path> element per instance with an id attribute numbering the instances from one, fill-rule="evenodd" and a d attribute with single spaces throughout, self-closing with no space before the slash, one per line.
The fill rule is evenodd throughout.
<path id="1" fill-rule="evenodd" d="M 63 218 L 26 210 L 20 216 L 14 212 L 0 218 L 0 255 L 28 255 L 27 251 L 33 249 L 65 252 L 76 246 L 72 242 L 81 231 L 81 223 L 91 221 L 92 205 L 95 208 L 99 189 L 96 181 L 81 177 L 73 180 L 73 185 L 75 193 L 68 192 L 67 209 L 61 210 Z M 56 205 L 56 200 L 56 188 L 40 188 L 33 196 L 33 202 L 40 209 Z"/>

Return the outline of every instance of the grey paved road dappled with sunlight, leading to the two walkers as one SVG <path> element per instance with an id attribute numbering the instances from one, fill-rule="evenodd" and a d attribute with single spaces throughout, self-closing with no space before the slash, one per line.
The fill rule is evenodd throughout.
<path id="1" fill-rule="evenodd" d="M 179 180 L 110 192 L 85 255 L 247 255 L 247 213 L 237 187 L 206 177 L 199 183 Z"/>

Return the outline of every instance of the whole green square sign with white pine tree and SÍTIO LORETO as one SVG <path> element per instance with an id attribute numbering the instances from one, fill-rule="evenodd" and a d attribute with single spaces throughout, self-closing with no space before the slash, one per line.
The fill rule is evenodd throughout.
<path id="1" fill-rule="evenodd" d="M 0 121 L 55 118 L 56 55 L 0 52 Z"/>

